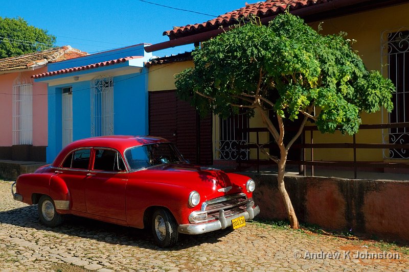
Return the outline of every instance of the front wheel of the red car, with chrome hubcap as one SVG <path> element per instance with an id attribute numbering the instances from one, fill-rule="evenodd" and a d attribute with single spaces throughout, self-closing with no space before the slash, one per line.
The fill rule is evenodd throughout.
<path id="1" fill-rule="evenodd" d="M 152 233 L 156 244 L 161 248 L 175 245 L 179 233 L 172 213 L 165 209 L 155 210 L 152 215 Z"/>

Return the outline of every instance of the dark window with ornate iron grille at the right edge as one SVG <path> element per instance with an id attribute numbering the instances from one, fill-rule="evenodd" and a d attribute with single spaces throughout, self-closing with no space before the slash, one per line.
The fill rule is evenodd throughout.
<path id="1" fill-rule="evenodd" d="M 389 114 L 389 122 L 409 122 L 409 28 L 388 30 L 382 33 L 382 73 L 388 76 L 396 86 L 392 95 L 393 111 Z M 387 65 L 385 65 L 387 64 Z M 386 75 L 387 73 L 387 75 Z M 384 142 L 409 143 L 407 128 L 394 128 L 383 136 Z M 384 150 L 385 158 L 407 159 L 409 150 Z"/>

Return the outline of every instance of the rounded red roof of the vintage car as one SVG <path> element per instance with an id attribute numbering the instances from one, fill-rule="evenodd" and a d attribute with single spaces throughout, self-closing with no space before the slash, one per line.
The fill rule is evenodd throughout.
<path id="1" fill-rule="evenodd" d="M 111 149 L 116 149 L 123 154 L 128 147 L 160 142 L 169 141 L 161 137 L 130 135 L 110 135 L 81 139 L 65 146 L 54 160 L 53 166 L 58 167 L 66 155 L 75 149 L 80 149 L 81 147 L 108 147 Z"/>

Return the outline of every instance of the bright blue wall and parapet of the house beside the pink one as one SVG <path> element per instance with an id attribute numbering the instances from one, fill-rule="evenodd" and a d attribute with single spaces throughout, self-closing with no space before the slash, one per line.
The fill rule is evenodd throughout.
<path id="1" fill-rule="evenodd" d="M 137 44 L 116 50 L 52 63 L 48 71 L 89 65 L 125 57 L 138 57 L 120 63 L 99 65 L 70 73 L 59 73 L 36 79 L 48 83 L 49 134 L 47 162 L 51 163 L 62 149 L 62 88 L 73 91 L 73 140 L 91 136 L 91 82 L 94 78 L 112 77 L 113 133 L 116 135 L 146 135 L 148 133 L 148 70 L 144 62 L 151 58 L 145 53 L 146 44 Z"/>

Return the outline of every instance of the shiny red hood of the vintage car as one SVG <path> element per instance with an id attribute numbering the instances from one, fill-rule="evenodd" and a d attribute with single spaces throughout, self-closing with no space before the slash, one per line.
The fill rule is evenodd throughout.
<path id="1" fill-rule="evenodd" d="M 165 164 L 136 171 L 131 177 L 144 181 L 182 186 L 199 192 L 202 200 L 242 191 L 243 181 L 232 180 L 231 174 L 209 167 L 192 164 Z M 235 175 L 243 177 L 241 175 Z M 243 179 L 243 180 L 244 180 Z"/>

